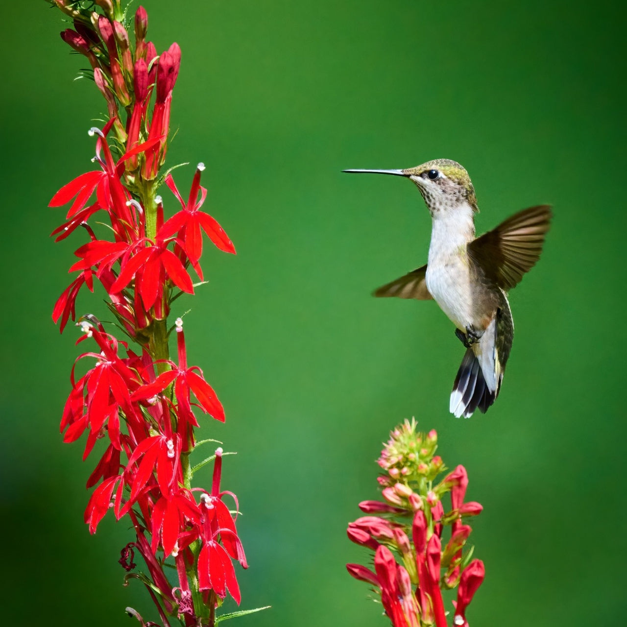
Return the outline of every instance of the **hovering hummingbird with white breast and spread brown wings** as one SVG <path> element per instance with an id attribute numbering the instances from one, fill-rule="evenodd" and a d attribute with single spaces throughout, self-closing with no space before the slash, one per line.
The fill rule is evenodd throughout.
<path id="1" fill-rule="evenodd" d="M 404 176 L 418 187 L 433 228 L 427 265 L 375 290 L 377 297 L 435 300 L 455 324 L 466 354 L 455 377 L 450 411 L 483 413 L 500 391 L 514 339 L 507 292 L 540 258 L 551 208 L 514 214 L 475 237 L 477 197 L 468 172 L 456 161 L 435 159 L 406 170 L 344 170 Z"/>

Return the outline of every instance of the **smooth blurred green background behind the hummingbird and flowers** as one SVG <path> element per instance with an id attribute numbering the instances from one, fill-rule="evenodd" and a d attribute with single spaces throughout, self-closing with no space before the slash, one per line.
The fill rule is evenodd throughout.
<path id="1" fill-rule="evenodd" d="M 383 627 L 345 562 L 357 502 L 375 498 L 381 441 L 416 416 L 463 463 L 475 555 L 487 579 L 473 626 L 619 624 L 626 512 L 622 3 L 498 0 L 145 0 L 158 50 L 176 40 L 178 127 L 169 163 L 204 161 L 206 207 L 238 248 L 206 247 L 211 282 L 179 300 L 191 361 L 227 411 L 224 487 L 244 512 L 251 566 L 242 618 L 257 627 Z M 135 6 L 137 6 L 135 4 Z M 122 587 L 112 517 L 82 522 L 95 461 L 63 445 L 78 354 L 50 312 L 70 282 L 76 233 L 48 238 L 53 192 L 90 168 L 103 101 L 73 81 L 85 61 L 45 3 L 3 7 L 3 624 L 130 624 L 156 618 Z M 512 292 L 514 349 L 502 395 L 455 419 L 463 349 L 434 303 L 371 290 L 426 261 L 418 191 L 349 167 L 448 157 L 477 189 L 478 231 L 554 205 L 542 259 Z M 189 186 L 193 166 L 177 171 Z M 176 203 L 164 192 L 166 207 Z M 83 295 L 81 312 L 102 311 Z M 209 483 L 209 470 L 198 483 Z"/>

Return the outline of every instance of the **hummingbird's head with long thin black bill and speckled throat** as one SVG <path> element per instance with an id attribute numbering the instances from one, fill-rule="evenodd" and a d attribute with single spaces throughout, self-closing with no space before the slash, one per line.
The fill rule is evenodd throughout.
<path id="1" fill-rule="evenodd" d="M 468 172 L 451 159 L 434 159 L 405 170 L 344 170 L 344 172 L 394 174 L 411 179 L 420 190 L 432 215 L 455 209 L 460 204 L 468 204 L 473 211 L 479 211 L 475 188 Z"/>

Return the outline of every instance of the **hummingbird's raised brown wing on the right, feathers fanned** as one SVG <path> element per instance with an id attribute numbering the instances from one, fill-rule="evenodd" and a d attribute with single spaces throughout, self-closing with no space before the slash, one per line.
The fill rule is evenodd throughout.
<path id="1" fill-rule="evenodd" d="M 547 204 L 523 209 L 470 242 L 468 254 L 489 280 L 511 290 L 539 260 L 551 217 Z"/>

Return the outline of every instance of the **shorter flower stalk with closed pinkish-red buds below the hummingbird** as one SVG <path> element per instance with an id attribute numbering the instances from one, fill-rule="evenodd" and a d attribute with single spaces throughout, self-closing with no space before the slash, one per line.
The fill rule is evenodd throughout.
<path id="1" fill-rule="evenodd" d="M 349 524 L 349 539 L 374 552 L 374 571 L 347 564 L 350 575 L 371 584 L 394 627 L 449 627 L 442 591 L 458 587 L 452 623 L 468 627 L 466 608 L 483 582 L 483 562 L 472 559 L 467 518 L 482 506 L 464 502 L 468 475 L 446 471 L 438 435 L 406 420 L 390 434 L 378 463 L 383 501 L 362 501 L 367 514 Z M 450 497 L 446 511 L 443 497 Z M 445 542 L 445 528 L 450 527 Z"/>

